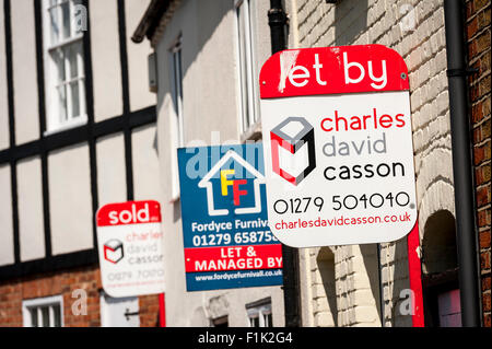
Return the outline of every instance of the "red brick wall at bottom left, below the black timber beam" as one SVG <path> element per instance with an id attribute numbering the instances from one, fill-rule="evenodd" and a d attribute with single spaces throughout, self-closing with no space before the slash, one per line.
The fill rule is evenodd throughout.
<path id="1" fill-rule="evenodd" d="M 85 290 L 87 315 L 74 315 L 72 298 L 74 290 Z M 30 276 L 21 279 L 0 281 L 0 327 L 21 327 L 22 302 L 50 295 L 63 296 L 63 323 L 66 327 L 101 326 L 99 290 L 101 275 L 97 266 L 70 269 L 59 272 Z M 140 326 L 157 325 L 159 296 L 139 299 Z"/>

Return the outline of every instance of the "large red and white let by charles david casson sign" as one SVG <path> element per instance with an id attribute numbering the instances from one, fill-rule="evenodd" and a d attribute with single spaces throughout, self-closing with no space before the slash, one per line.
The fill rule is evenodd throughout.
<path id="1" fill-rule="evenodd" d="M 259 78 L 268 220 L 294 247 L 380 243 L 417 221 L 408 70 L 382 45 L 292 49 Z"/>

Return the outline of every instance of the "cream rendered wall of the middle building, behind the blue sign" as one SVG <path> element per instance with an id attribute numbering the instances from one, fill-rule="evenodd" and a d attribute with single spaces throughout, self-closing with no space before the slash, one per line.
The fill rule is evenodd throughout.
<path id="1" fill-rule="evenodd" d="M 229 316 L 230 326 L 248 326 L 245 304 L 268 296 L 272 302 L 273 325 L 284 325 L 280 287 L 186 292 L 180 202 L 173 200 L 171 190 L 173 133 L 169 126 L 173 120 L 169 118 L 174 113 L 168 49 L 180 34 L 185 143 L 219 144 L 226 140 L 239 143 L 234 15 L 233 1 L 183 1 L 167 25 L 157 30 L 159 38 L 153 40 L 159 62 L 157 140 L 168 326 L 209 326 L 212 318 L 223 315 Z M 267 21 L 267 12 L 262 15 Z M 265 25 L 259 27 L 260 31 L 265 28 Z M 269 38 L 269 32 L 258 33 L 258 37 Z M 269 49 L 266 45 L 258 48 L 258 61 L 269 57 Z"/>

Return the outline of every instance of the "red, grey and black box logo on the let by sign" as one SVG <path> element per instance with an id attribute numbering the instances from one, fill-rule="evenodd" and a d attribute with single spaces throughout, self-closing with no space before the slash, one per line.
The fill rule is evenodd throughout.
<path id="1" fill-rule="evenodd" d="M 289 136 L 282 131 L 282 129 L 291 123 L 301 123 L 303 129 L 294 136 Z M 313 126 L 303 117 L 290 116 L 282 123 L 277 125 L 270 131 L 270 144 L 271 144 L 271 165 L 272 171 L 281 176 L 283 179 L 297 186 L 313 170 L 316 168 L 316 154 L 315 154 L 315 135 Z M 301 148 L 307 146 L 307 166 L 294 177 L 285 170 L 280 167 L 280 154 L 279 148 L 283 148 L 295 154 Z"/>

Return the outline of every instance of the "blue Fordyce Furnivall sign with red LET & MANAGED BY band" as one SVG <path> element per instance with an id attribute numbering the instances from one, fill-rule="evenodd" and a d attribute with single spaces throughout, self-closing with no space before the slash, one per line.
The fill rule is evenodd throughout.
<path id="1" fill-rule="evenodd" d="M 178 149 L 187 291 L 282 284 L 261 144 Z"/>

